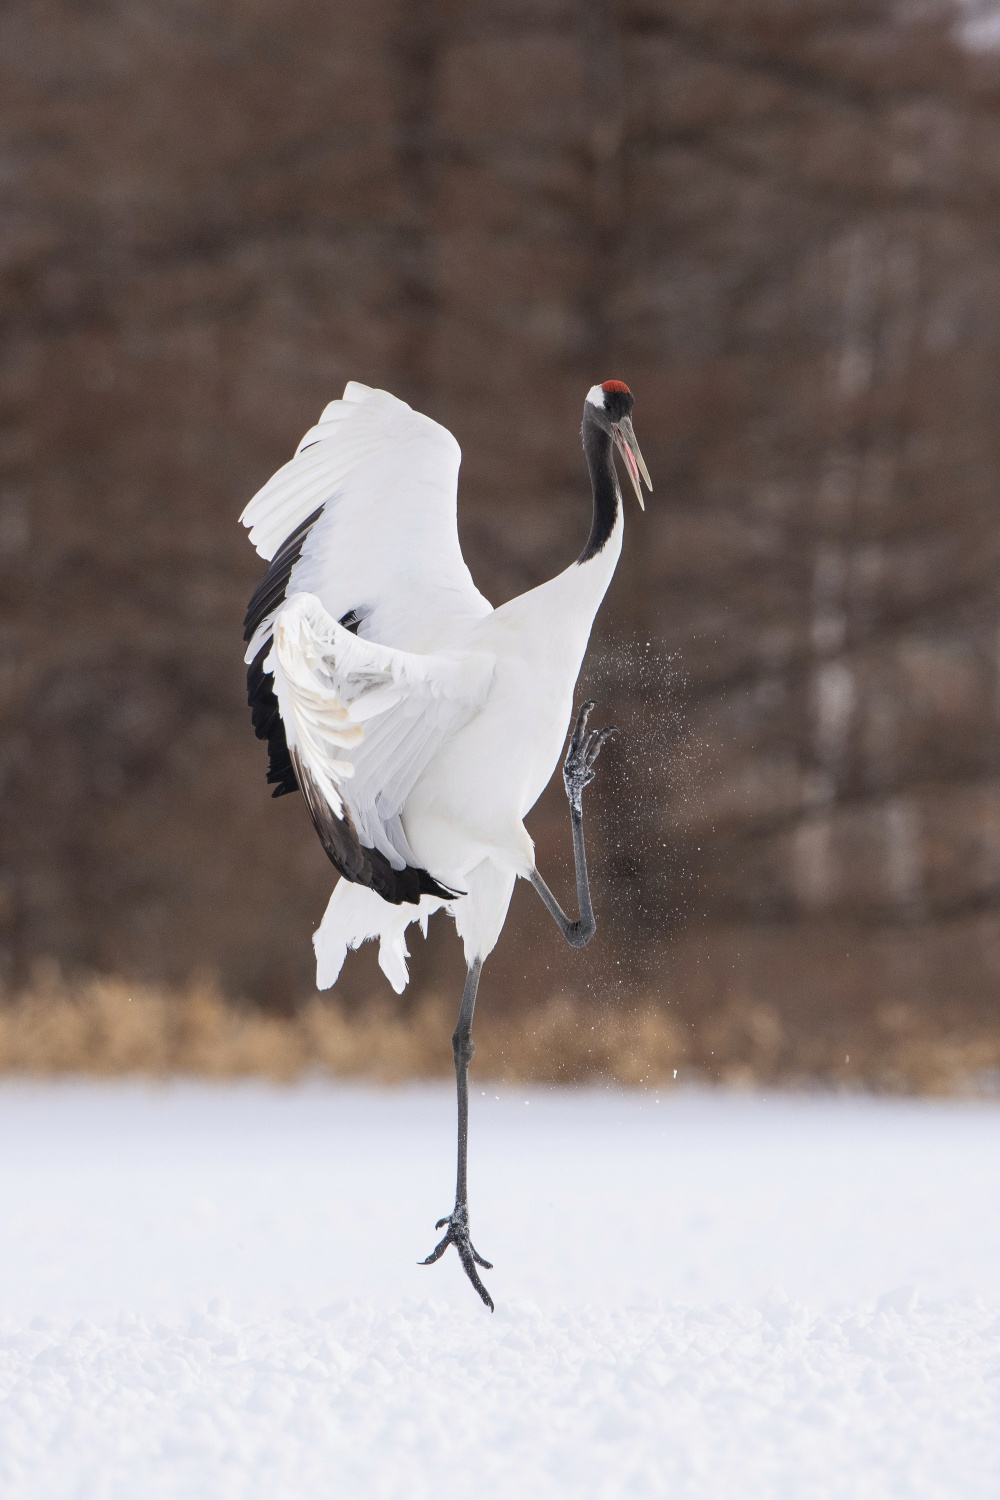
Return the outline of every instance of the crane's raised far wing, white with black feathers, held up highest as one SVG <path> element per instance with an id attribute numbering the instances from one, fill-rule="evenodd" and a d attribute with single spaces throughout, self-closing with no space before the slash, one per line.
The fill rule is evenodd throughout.
<path id="1" fill-rule="evenodd" d="M 247 700 L 270 750 L 274 796 L 297 789 L 265 662 L 274 614 L 315 594 L 360 639 L 439 648 L 462 621 L 490 612 L 459 546 L 462 453 L 451 434 L 384 390 L 351 381 L 243 512 L 270 561 L 244 621 Z"/>

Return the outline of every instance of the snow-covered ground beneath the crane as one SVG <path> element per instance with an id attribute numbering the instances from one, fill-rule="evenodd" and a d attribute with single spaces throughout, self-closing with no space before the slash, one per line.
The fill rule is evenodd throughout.
<path id="1" fill-rule="evenodd" d="M 472 1104 L 0 1088 L 4 1500 L 1000 1496 L 994 1104 Z"/>

